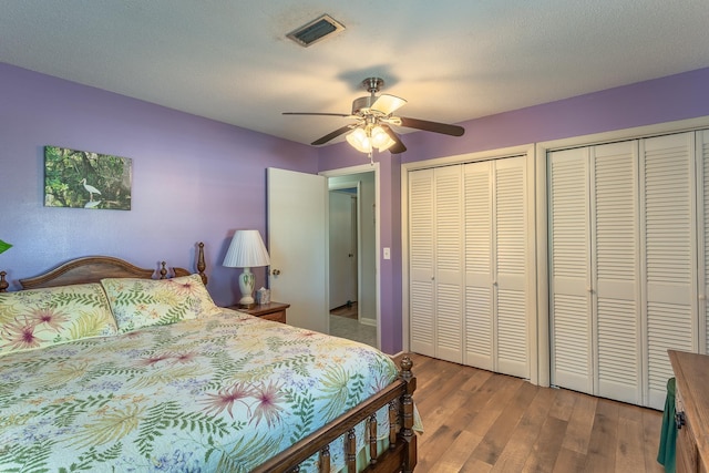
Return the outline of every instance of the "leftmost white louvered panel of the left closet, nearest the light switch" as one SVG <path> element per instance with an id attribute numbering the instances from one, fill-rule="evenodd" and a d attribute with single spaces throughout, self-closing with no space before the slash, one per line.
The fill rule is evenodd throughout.
<path id="1" fill-rule="evenodd" d="M 409 320 L 411 351 L 435 357 L 433 169 L 409 174 Z"/>

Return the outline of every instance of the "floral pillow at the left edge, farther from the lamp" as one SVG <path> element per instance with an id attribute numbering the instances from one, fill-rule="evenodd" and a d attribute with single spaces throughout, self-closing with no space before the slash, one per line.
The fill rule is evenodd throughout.
<path id="1" fill-rule="evenodd" d="M 116 333 L 99 284 L 0 292 L 0 354 Z"/>

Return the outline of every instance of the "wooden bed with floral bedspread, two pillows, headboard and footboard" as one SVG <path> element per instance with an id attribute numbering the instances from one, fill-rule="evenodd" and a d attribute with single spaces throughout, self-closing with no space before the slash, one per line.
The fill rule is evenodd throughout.
<path id="1" fill-rule="evenodd" d="M 0 273 L 0 471 L 413 471 L 411 360 L 219 308 L 197 254 Z"/>

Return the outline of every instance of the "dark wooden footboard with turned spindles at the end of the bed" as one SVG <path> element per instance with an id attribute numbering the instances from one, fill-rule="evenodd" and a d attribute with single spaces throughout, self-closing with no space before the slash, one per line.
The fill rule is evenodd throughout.
<path id="1" fill-rule="evenodd" d="M 413 432 L 413 391 L 417 379 L 411 372 L 413 362 L 409 357 L 401 360 L 399 379 L 340 415 L 329 424 L 311 433 L 277 456 L 254 470 L 255 473 L 297 472 L 299 464 L 319 453 L 320 473 L 330 472 L 329 445 L 345 435 L 347 454 L 347 472 L 357 471 L 357 452 L 354 425 L 368 420 L 369 452 L 372 459 L 364 472 L 412 472 L 417 465 L 417 436 Z M 377 417 L 376 412 L 389 407 L 389 450 L 377 456 Z M 401 420 L 401 429 L 397 432 L 397 423 Z"/>

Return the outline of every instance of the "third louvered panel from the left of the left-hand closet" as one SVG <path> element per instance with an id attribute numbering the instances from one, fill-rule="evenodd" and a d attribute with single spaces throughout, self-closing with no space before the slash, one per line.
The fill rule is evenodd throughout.
<path id="1" fill-rule="evenodd" d="M 494 371 L 492 161 L 465 164 L 465 359 Z"/>

